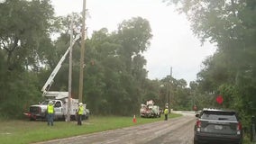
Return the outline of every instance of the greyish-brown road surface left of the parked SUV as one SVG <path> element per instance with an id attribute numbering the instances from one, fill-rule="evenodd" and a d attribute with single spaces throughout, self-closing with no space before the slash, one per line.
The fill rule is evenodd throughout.
<path id="1" fill-rule="evenodd" d="M 195 115 L 37 144 L 193 144 Z"/>

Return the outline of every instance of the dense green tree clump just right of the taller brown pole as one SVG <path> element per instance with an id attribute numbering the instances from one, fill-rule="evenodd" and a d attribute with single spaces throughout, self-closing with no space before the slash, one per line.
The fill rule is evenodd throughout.
<path id="1" fill-rule="evenodd" d="M 87 40 L 85 99 L 95 113 L 138 112 L 147 76 L 141 53 L 149 44 L 148 30 L 146 20 L 133 18 L 123 21 L 118 31 L 109 33 L 103 28 Z"/>

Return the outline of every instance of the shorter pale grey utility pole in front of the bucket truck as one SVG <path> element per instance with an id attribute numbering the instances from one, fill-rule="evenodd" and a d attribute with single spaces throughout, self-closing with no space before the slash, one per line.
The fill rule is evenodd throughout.
<path id="1" fill-rule="evenodd" d="M 71 15 L 71 25 L 70 25 L 70 45 L 73 42 L 73 14 Z M 70 107 L 71 107 L 71 88 L 72 87 L 72 47 L 69 50 L 69 98 L 68 98 L 68 117 L 67 121 L 70 121 Z"/>

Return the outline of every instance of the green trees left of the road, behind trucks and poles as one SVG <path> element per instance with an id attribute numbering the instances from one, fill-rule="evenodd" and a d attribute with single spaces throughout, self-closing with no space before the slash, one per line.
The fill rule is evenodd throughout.
<path id="1" fill-rule="evenodd" d="M 72 15 L 72 16 L 71 16 Z M 50 0 L 6 0 L 0 4 L 0 117 L 23 117 L 31 104 L 43 100 L 41 87 L 69 47 L 71 17 L 74 38 L 81 14 L 54 16 Z M 147 78 L 143 52 L 151 44 L 150 23 L 133 17 L 116 31 L 102 28 L 86 40 L 83 103 L 94 114 L 131 115 L 141 103 L 189 109 L 184 79 Z M 73 47 L 72 98 L 78 98 L 81 40 Z M 69 58 L 54 78 L 52 91 L 68 91 Z M 185 101 L 184 101 L 185 100 Z"/>

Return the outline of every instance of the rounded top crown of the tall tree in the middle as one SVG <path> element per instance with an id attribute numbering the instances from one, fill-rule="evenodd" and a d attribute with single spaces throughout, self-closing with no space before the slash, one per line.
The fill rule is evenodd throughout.
<path id="1" fill-rule="evenodd" d="M 128 72 L 132 70 L 133 57 L 144 52 L 150 46 L 150 23 L 142 17 L 123 21 L 118 27 L 116 39 L 122 45 L 117 52 L 126 63 Z"/>

